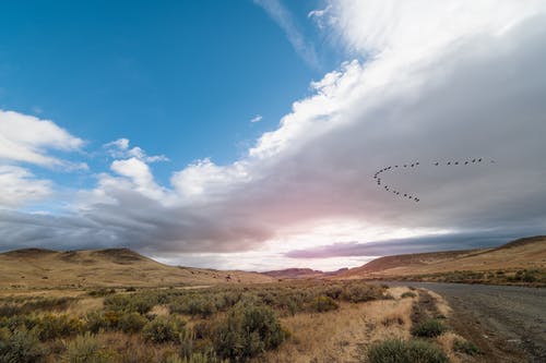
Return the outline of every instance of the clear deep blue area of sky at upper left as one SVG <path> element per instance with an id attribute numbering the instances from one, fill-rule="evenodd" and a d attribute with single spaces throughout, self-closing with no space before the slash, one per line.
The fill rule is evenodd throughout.
<path id="1" fill-rule="evenodd" d="M 232 162 L 337 65 L 307 16 L 318 4 L 286 5 L 319 64 L 252 1 L 12 2 L 0 14 L 0 106 L 85 135 L 86 149 L 127 137 L 168 155 L 154 166 L 163 182 L 195 159 Z"/>

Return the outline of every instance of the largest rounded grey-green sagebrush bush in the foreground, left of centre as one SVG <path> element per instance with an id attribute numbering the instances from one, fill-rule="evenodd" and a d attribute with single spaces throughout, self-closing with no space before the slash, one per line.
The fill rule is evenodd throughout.
<path id="1" fill-rule="evenodd" d="M 287 336 L 270 307 L 237 304 L 216 328 L 214 346 L 222 358 L 239 362 L 277 348 Z"/>

